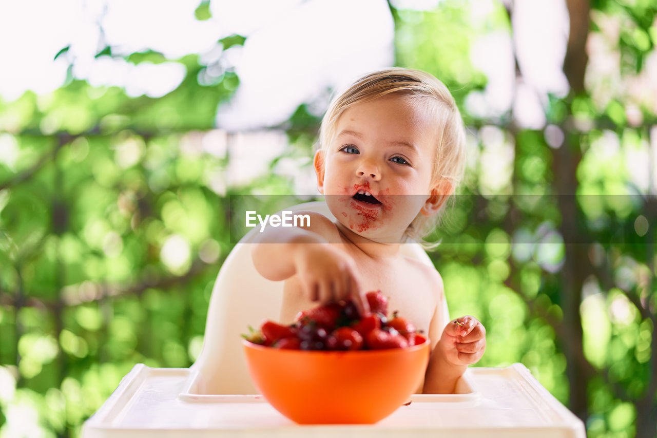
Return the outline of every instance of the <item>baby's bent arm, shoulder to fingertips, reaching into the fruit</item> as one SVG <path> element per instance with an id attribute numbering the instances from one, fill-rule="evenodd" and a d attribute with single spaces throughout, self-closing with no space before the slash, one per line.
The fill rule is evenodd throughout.
<path id="1" fill-rule="evenodd" d="M 256 270 L 268 280 L 281 281 L 297 275 L 311 301 L 353 298 L 361 311 L 367 300 L 361 295 L 356 264 L 336 240 L 336 227 L 317 212 L 299 212 L 310 216 L 306 228 L 267 228 L 259 233 L 252 258 Z"/>

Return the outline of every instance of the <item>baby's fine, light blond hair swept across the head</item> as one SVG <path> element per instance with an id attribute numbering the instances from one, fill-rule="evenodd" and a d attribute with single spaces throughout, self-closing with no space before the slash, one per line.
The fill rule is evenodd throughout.
<path id="1" fill-rule="evenodd" d="M 353 83 L 346 91 L 335 97 L 322 119 L 319 131 L 319 148 L 325 149 L 336 134 L 338 119 L 344 112 L 366 101 L 372 101 L 386 95 L 398 95 L 418 101 L 426 110 L 431 111 L 436 119 L 438 144 L 434 155 L 432 184 L 444 180 L 449 187 L 442 185 L 442 207 L 434 216 L 424 216 L 419 213 L 406 229 L 407 239 L 419 241 L 426 248 L 435 247 L 424 241 L 436 225 L 445 205 L 456 187 L 463 179 L 465 168 L 465 129 L 461 113 L 449 90 L 433 75 L 409 68 L 386 68 L 363 76 Z M 438 105 L 428 105 L 436 103 Z"/>

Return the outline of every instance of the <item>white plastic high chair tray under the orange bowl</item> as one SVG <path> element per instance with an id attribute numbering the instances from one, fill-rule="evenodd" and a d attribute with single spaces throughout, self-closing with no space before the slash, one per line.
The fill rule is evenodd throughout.
<path id="1" fill-rule="evenodd" d="M 585 437 L 583 423 L 522 364 L 469 368 L 461 394 L 412 395 L 371 425 L 300 426 L 261 395 L 194 395 L 193 374 L 135 365 L 85 422 L 83 437 Z"/>

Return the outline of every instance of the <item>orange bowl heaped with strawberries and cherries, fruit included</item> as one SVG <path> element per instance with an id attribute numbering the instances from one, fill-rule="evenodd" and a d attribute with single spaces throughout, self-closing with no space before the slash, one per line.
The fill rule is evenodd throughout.
<path id="1" fill-rule="evenodd" d="M 380 291 L 371 312 L 353 302 L 300 312 L 289 325 L 250 329 L 244 352 L 267 401 L 299 424 L 371 424 L 409 400 L 424 377 L 429 342 L 395 312 Z"/>

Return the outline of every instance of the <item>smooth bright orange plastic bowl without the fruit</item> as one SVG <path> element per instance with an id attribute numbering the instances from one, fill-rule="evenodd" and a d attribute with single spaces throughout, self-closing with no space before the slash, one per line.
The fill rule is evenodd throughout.
<path id="1" fill-rule="evenodd" d="M 420 339 L 419 339 L 420 341 Z M 256 387 L 300 424 L 376 423 L 420 385 L 429 342 L 365 351 L 302 351 L 242 341 Z"/>

